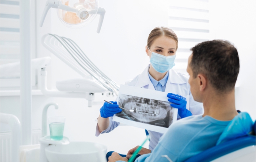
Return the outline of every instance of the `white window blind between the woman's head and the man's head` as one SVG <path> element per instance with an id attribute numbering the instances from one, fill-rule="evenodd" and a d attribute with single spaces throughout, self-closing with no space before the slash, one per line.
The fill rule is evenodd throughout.
<path id="1" fill-rule="evenodd" d="M 209 40 L 208 0 L 169 0 L 168 25 L 178 37 L 176 71 L 186 73 L 190 48 Z"/>

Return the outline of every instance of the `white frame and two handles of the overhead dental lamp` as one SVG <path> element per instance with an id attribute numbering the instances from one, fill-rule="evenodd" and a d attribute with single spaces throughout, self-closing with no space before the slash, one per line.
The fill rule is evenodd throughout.
<path id="1" fill-rule="evenodd" d="M 81 5 L 80 5 L 81 6 Z M 80 18 L 81 20 L 86 20 L 90 14 L 95 14 L 93 11 L 87 11 L 85 8 L 80 8 L 80 7 L 71 7 L 71 6 L 67 6 L 67 5 L 63 5 L 61 3 L 61 1 L 59 0 L 48 0 L 45 4 L 45 8 L 44 8 L 44 12 L 43 15 L 41 17 L 41 21 L 40 21 L 40 27 L 43 26 L 44 23 L 44 19 L 49 11 L 50 8 L 56 8 L 56 9 L 62 9 L 64 11 L 68 11 L 68 12 L 72 12 L 72 13 L 76 13 L 78 18 Z M 101 27 L 102 27 L 102 23 L 103 23 L 103 19 L 105 16 L 106 10 L 104 8 L 99 7 L 97 9 L 97 14 L 100 15 L 100 19 L 99 19 L 99 23 L 98 23 L 98 28 L 97 28 L 97 33 L 100 33 Z M 93 18 L 94 19 L 94 18 Z M 63 21 L 63 20 L 62 20 Z M 82 22 L 83 23 L 83 22 Z M 71 24 L 72 25 L 72 24 Z M 75 25 L 75 24 L 74 24 Z"/>

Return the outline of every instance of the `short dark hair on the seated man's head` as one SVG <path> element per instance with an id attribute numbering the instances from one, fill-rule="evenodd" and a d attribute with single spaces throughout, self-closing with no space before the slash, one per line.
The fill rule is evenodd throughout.
<path id="1" fill-rule="evenodd" d="M 234 89 L 239 73 L 237 49 L 224 40 L 205 41 L 193 48 L 190 67 L 193 77 L 204 74 L 211 85 L 220 93 Z"/>

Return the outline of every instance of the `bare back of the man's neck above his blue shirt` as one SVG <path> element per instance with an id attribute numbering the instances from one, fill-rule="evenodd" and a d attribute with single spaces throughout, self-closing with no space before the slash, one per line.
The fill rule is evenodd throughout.
<path id="1" fill-rule="evenodd" d="M 235 109 L 235 91 L 217 94 L 207 93 L 203 100 L 203 116 L 211 116 L 216 120 L 232 120 L 238 113 Z"/>

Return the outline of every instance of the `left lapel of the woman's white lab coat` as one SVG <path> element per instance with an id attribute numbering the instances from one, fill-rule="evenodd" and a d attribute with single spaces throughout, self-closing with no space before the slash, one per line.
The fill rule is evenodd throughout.
<path id="1" fill-rule="evenodd" d="M 135 85 L 135 87 L 140 87 L 140 88 L 147 88 L 151 90 L 155 90 L 152 82 L 149 79 L 149 66 L 145 68 L 145 70 L 141 73 L 141 75 L 138 78 L 138 81 Z"/>

